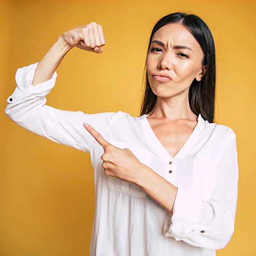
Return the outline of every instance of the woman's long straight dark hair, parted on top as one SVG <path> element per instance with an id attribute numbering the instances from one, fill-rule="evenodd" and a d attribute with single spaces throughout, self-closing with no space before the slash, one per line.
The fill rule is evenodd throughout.
<path id="1" fill-rule="evenodd" d="M 194 36 L 204 52 L 202 66 L 207 65 L 206 74 L 201 81 L 194 79 L 189 87 L 189 105 L 195 115 L 201 116 L 204 120 L 212 123 L 215 115 L 215 87 L 216 87 L 216 56 L 215 44 L 207 24 L 197 15 L 186 14 L 185 12 L 175 12 L 162 17 L 155 24 L 148 44 L 148 51 L 154 33 L 162 26 L 169 23 L 180 23 L 185 26 Z M 147 51 L 147 52 L 148 52 Z M 140 103 L 140 116 L 150 113 L 157 101 L 157 95 L 151 90 L 148 81 L 146 64 L 143 76 L 144 94 Z"/>

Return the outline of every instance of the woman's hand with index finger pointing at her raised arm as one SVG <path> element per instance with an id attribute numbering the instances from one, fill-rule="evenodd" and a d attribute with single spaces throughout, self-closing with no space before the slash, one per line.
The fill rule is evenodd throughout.
<path id="1" fill-rule="evenodd" d="M 84 128 L 90 132 L 104 149 L 101 159 L 103 160 L 102 167 L 105 174 L 120 180 L 136 183 L 140 170 L 143 168 L 143 163 L 137 159 L 129 148 L 122 149 L 108 143 L 92 126 L 86 127 L 85 124 Z"/>

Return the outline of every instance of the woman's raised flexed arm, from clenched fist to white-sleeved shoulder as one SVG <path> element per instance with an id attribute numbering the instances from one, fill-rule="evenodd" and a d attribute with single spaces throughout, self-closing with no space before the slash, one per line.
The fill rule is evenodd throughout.
<path id="1" fill-rule="evenodd" d="M 64 32 L 41 61 L 17 70 L 17 87 L 7 99 L 6 115 L 35 134 L 90 153 L 93 137 L 84 129 L 83 123 L 91 124 L 104 134 L 115 113 L 88 114 L 55 109 L 46 105 L 46 95 L 54 87 L 56 69 L 70 49 L 78 47 L 101 53 L 103 45 L 102 27 L 95 22 Z"/>

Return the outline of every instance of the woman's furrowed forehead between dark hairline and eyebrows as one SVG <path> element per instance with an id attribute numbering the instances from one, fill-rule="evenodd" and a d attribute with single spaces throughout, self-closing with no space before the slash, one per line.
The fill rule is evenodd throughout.
<path id="1" fill-rule="evenodd" d="M 164 44 L 169 45 L 186 45 L 192 48 L 195 52 L 201 51 L 198 41 L 195 40 L 193 35 L 186 29 L 185 26 L 179 23 L 169 23 L 162 26 L 157 32 L 154 33 L 152 41 L 159 40 Z"/>

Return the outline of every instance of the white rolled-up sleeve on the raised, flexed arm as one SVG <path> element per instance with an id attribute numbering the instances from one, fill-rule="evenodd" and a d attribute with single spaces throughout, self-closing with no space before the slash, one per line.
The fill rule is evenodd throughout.
<path id="1" fill-rule="evenodd" d="M 37 63 L 19 68 L 17 87 L 7 99 L 5 113 L 23 128 L 56 143 L 90 153 L 92 135 L 84 128 L 87 122 L 100 134 L 108 130 L 115 112 L 88 114 L 66 111 L 46 105 L 46 95 L 55 86 L 56 71 L 51 79 L 32 85 Z M 84 97 L 87 97 L 86 95 Z"/>

